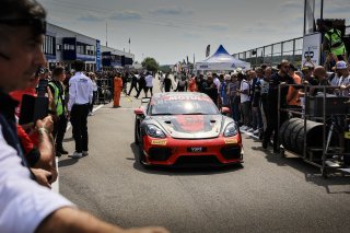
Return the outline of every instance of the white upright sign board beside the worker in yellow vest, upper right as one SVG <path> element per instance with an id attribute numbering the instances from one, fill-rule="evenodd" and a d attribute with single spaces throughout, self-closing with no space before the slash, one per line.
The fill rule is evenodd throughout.
<path id="1" fill-rule="evenodd" d="M 320 44 L 322 34 L 315 33 L 305 35 L 303 38 L 303 56 L 302 56 L 302 67 L 303 66 L 318 66 L 320 63 Z M 310 60 L 307 58 L 310 57 Z"/>

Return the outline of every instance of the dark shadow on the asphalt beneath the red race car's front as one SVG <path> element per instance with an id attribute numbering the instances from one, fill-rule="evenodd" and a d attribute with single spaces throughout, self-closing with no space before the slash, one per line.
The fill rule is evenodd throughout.
<path id="1" fill-rule="evenodd" d="M 228 166 L 199 166 L 199 167 L 164 167 L 164 166 L 144 166 L 139 162 L 139 147 L 136 143 L 130 144 L 133 153 L 133 159 L 128 158 L 127 160 L 133 160 L 133 167 L 142 173 L 168 175 L 168 176 L 191 176 L 191 175 L 210 175 L 210 174 L 222 174 L 237 172 L 243 168 L 242 164 L 233 164 Z"/>

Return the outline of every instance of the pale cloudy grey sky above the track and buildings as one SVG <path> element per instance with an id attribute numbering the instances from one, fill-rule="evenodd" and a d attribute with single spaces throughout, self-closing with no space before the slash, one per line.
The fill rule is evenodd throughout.
<path id="1" fill-rule="evenodd" d="M 316 9 L 320 0 L 316 0 Z M 48 22 L 135 54 L 174 65 L 202 60 L 223 45 L 230 54 L 303 35 L 304 0 L 38 0 Z M 347 19 L 350 0 L 325 0 L 324 18 Z M 319 14 L 319 13 L 318 13 Z M 317 18 L 317 15 L 316 15 Z"/>

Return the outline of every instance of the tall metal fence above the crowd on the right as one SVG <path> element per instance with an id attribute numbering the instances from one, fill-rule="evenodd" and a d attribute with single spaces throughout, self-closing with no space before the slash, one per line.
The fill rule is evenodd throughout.
<path id="1" fill-rule="evenodd" d="M 350 35 L 350 26 L 346 27 L 346 35 Z M 295 67 L 301 67 L 303 54 L 303 37 L 284 40 L 246 51 L 233 54 L 233 57 L 250 62 L 252 67 L 262 63 L 277 66 L 282 59 L 287 59 Z"/>

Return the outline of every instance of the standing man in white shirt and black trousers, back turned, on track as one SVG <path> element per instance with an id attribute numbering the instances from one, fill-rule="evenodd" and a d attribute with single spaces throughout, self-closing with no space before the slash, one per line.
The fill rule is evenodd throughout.
<path id="1" fill-rule="evenodd" d="M 89 155 L 88 116 L 93 97 L 93 84 L 91 79 L 82 73 L 83 67 L 84 62 L 77 60 L 74 62 L 77 73 L 69 80 L 68 110 L 72 124 L 75 151 L 68 156 L 72 159 Z"/>

